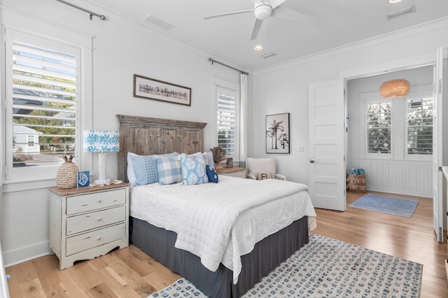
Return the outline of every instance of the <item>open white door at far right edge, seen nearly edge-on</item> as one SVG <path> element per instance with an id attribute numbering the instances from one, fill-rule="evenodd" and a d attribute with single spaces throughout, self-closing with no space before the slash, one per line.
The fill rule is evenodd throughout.
<path id="1" fill-rule="evenodd" d="M 447 141 L 447 129 L 443 129 L 443 112 L 447 111 L 447 102 L 443 102 L 444 80 L 447 79 L 447 49 L 437 49 L 435 64 L 434 115 L 433 115 L 433 223 L 437 241 L 443 242 L 444 189 L 442 166 L 447 154 L 443 156 L 443 141 Z M 445 84 L 446 86 L 446 84 Z M 447 94 L 447 92 L 444 92 Z M 446 120 L 445 120 L 446 121 Z"/>

